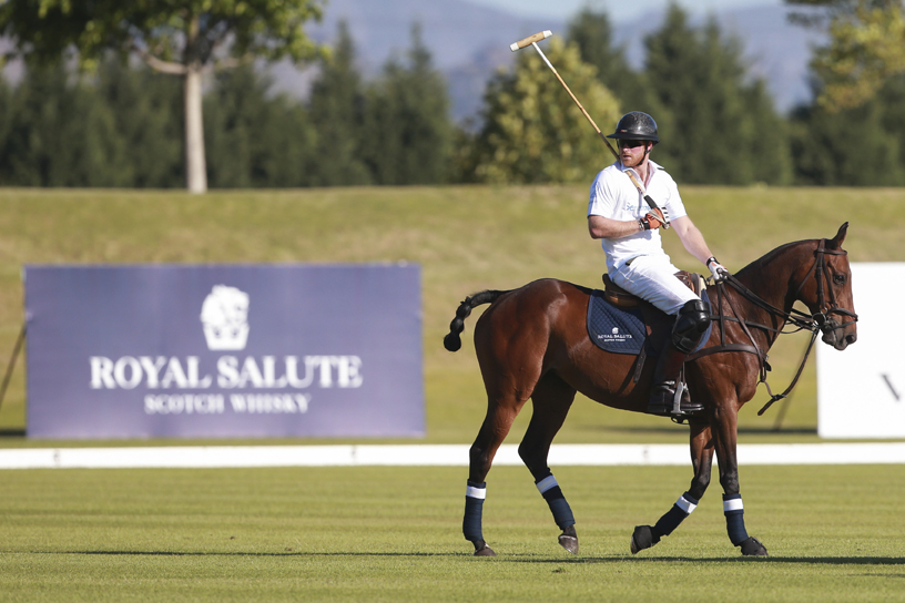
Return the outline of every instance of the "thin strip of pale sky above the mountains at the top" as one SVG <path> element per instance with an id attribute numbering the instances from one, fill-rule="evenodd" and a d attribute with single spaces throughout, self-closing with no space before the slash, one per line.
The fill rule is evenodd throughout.
<path id="1" fill-rule="evenodd" d="M 669 6 L 670 0 L 469 0 L 474 4 L 508 10 L 525 17 L 553 17 L 567 20 L 590 6 L 602 9 L 612 21 L 626 21 L 645 12 Z M 718 9 L 780 6 L 783 0 L 679 0 L 679 4 L 692 14 L 708 13 Z"/>

